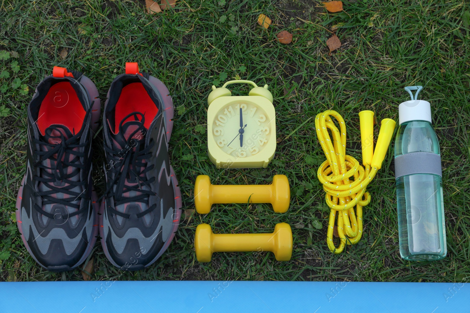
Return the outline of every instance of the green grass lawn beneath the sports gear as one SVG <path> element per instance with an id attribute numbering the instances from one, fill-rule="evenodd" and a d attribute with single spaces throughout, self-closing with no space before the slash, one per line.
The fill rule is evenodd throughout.
<path id="1" fill-rule="evenodd" d="M 345 0 L 347 13 L 329 14 L 321 2 L 312 0 L 220 2 L 181 1 L 174 10 L 157 15 L 146 14 L 144 1 L 1 2 L 0 50 L 14 53 L 0 60 L 0 72 L 9 73 L 0 78 L 0 87 L 5 86 L 0 93 L 5 105 L 0 107 L 4 116 L 0 117 L 0 279 L 83 279 L 79 269 L 56 274 L 38 267 L 16 228 L 16 193 L 25 171 L 26 107 L 36 85 L 54 65 L 64 66 L 85 72 L 105 99 L 113 78 L 124 72 L 125 61 L 138 61 L 173 96 L 170 157 L 180 182 L 185 220 L 167 252 L 143 271 L 129 273 L 112 266 L 97 243 L 92 279 L 467 280 L 470 33 L 462 15 L 469 7 L 445 0 Z M 273 20 L 268 30 L 256 22 L 260 13 Z M 343 26 L 337 35 L 343 46 L 329 55 L 327 30 L 339 23 Z M 292 44 L 275 41 L 282 30 L 294 35 Z M 68 48 L 65 59 L 59 55 L 63 48 Z M 210 87 L 219 79 L 238 76 L 268 84 L 274 95 L 281 141 L 266 169 L 218 170 L 207 156 Z M 403 87 L 415 84 L 424 86 L 421 97 L 431 102 L 441 145 L 447 257 L 431 263 L 400 258 L 392 148 L 368 187 L 372 201 L 364 209 L 363 238 L 334 255 L 325 243 L 329 211 L 316 178 L 324 155 L 314 116 L 326 109 L 343 115 L 347 153 L 360 160 L 359 111 L 370 109 L 377 120 L 398 121 L 398 104 L 408 98 Z M 235 95 L 245 94 L 248 87 L 233 90 Z M 101 138 L 100 130 L 94 140 L 94 181 L 99 191 L 104 179 Z M 269 183 L 274 174 L 285 174 L 291 184 L 290 209 L 274 214 L 265 204 L 217 205 L 210 214 L 193 214 L 193 187 L 200 174 L 219 184 Z M 194 233 L 203 222 L 220 233 L 272 232 L 278 222 L 297 225 L 292 227 L 292 260 L 277 262 L 270 252 L 216 253 L 211 263 L 198 263 Z"/>

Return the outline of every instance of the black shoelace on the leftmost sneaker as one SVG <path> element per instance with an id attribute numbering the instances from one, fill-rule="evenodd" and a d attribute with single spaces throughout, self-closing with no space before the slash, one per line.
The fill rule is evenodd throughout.
<path id="1" fill-rule="evenodd" d="M 91 110 L 93 107 L 93 102 L 90 105 L 90 108 L 86 111 L 84 121 L 89 118 L 91 114 Z M 60 136 L 52 136 L 52 132 L 56 130 L 60 133 Z M 49 190 L 48 191 L 35 191 L 34 195 L 39 196 L 42 198 L 42 205 L 47 204 L 62 204 L 64 206 L 70 206 L 73 208 L 78 209 L 78 211 L 74 213 L 69 213 L 67 215 L 62 215 L 63 219 L 67 219 L 71 216 L 75 216 L 78 214 L 82 214 L 88 210 L 88 206 L 84 206 L 83 209 L 80 210 L 80 202 L 81 198 L 87 198 L 88 194 L 83 191 L 81 193 L 72 191 L 76 186 L 85 186 L 88 183 L 86 180 L 79 180 L 78 182 L 74 182 L 71 180 L 72 177 L 79 174 L 80 170 L 86 169 L 86 162 L 85 164 L 79 164 L 78 161 L 81 157 L 86 155 L 85 152 L 79 152 L 74 149 L 86 146 L 86 142 L 80 144 L 80 137 L 83 133 L 84 127 L 82 126 L 81 130 L 78 134 L 71 136 L 70 138 L 65 138 L 63 132 L 61 131 L 61 127 L 58 126 L 49 126 L 46 130 L 46 137 L 48 138 L 60 138 L 60 143 L 51 144 L 47 141 L 46 138 L 40 137 L 39 140 L 36 138 L 32 138 L 34 144 L 41 146 L 47 146 L 49 149 L 47 151 L 36 150 L 35 154 L 39 155 L 39 160 L 34 164 L 34 166 L 41 168 L 41 176 L 34 176 L 34 179 L 43 183 Z M 70 156 L 73 156 L 70 159 Z M 50 167 L 46 166 L 43 163 L 49 160 Z M 67 174 L 68 168 L 72 168 L 71 172 Z M 50 171 L 50 172 L 48 172 Z M 61 186 L 56 186 L 54 183 L 60 183 Z M 52 195 L 57 193 L 67 194 L 70 197 L 63 197 L 61 198 L 54 198 Z M 75 201 L 78 203 L 74 203 Z M 38 204 L 34 204 L 34 208 L 40 214 L 47 216 L 50 219 L 55 219 L 56 214 L 47 213 L 46 211 L 42 210 L 42 208 Z"/>

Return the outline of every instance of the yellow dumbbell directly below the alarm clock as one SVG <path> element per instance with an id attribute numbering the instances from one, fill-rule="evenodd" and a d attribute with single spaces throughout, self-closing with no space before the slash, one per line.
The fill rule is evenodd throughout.
<path id="1" fill-rule="evenodd" d="M 207 214 L 214 203 L 271 203 L 274 212 L 289 209 L 290 187 L 285 175 L 274 175 L 270 185 L 212 185 L 207 175 L 199 175 L 194 184 L 194 205 L 199 214 Z"/>

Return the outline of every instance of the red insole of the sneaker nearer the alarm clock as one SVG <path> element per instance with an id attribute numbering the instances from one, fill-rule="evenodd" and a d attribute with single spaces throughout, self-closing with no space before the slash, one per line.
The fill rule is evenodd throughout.
<path id="1" fill-rule="evenodd" d="M 144 126 L 149 129 L 150 124 L 157 115 L 158 108 L 150 98 L 142 83 L 131 83 L 122 89 L 121 95 L 115 108 L 115 131 L 119 131 L 119 123 L 126 115 L 133 112 L 145 114 Z M 135 121 L 134 116 L 129 117 L 125 122 Z M 123 124 L 125 123 L 123 122 Z"/>

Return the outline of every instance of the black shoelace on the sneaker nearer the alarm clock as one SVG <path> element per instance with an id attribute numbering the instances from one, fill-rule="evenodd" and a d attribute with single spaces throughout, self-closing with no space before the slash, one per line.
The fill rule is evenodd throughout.
<path id="1" fill-rule="evenodd" d="M 150 190 L 149 184 L 155 181 L 155 177 L 151 177 L 147 179 L 145 175 L 149 170 L 154 168 L 154 165 L 147 166 L 146 163 L 143 162 L 144 159 L 148 159 L 152 156 L 150 149 L 152 148 L 154 142 L 150 140 L 149 146 L 147 148 L 143 148 L 145 145 L 144 138 L 137 140 L 133 138 L 134 135 L 137 133 L 144 134 L 145 127 L 145 116 L 139 112 L 133 112 L 127 115 L 122 121 L 119 123 L 119 133 L 122 134 L 124 137 L 124 129 L 123 123 L 131 116 L 134 116 L 135 120 L 138 121 L 137 115 L 141 116 L 141 121 L 139 126 L 136 130 L 134 130 L 129 136 L 128 139 L 125 139 L 124 148 L 119 148 L 118 146 L 114 146 L 114 148 L 109 148 L 105 146 L 105 150 L 113 160 L 116 160 L 114 166 L 111 166 L 110 171 L 114 173 L 114 179 L 108 185 L 108 189 L 105 192 L 106 197 L 113 197 L 115 199 L 115 206 L 128 203 L 128 202 L 141 202 L 144 204 L 149 204 L 149 196 L 155 196 L 156 193 Z M 126 180 L 129 182 L 136 182 L 133 186 L 126 184 Z M 146 185 L 149 190 L 142 189 L 142 184 Z M 113 187 L 116 186 L 113 192 Z M 139 195 L 134 197 L 126 196 L 125 193 L 130 191 L 136 191 L 137 193 L 140 192 Z M 144 210 L 143 212 L 137 214 L 138 218 L 149 214 L 157 207 L 157 204 L 153 204 L 149 206 L 148 209 Z M 113 209 L 111 206 L 108 206 L 108 209 L 111 213 L 117 214 L 119 216 L 130 218 L 130 214 L 125 214 Z"/>

